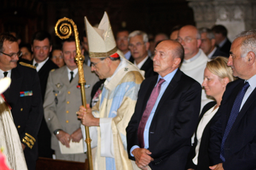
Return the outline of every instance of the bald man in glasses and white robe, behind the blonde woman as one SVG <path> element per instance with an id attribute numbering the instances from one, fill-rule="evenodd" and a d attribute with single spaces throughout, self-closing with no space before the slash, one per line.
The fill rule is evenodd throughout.
<path id="1" fill-rule="evenodd" d="M 184 47 L 184 61 L 180 67 L 181 71 L 202 84 L 203 72 L 208 58 L 199 48 L 201 45 L 200 33 L 195 26 L 185 25 L 181 27 L 177 40 Z M 211 100 L 207 98 L 202 89 L 201 108 L 209 101 Z"/>

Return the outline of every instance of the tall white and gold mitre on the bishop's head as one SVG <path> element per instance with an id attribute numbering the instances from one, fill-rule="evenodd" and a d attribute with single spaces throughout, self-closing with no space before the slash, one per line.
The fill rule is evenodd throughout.
<path id="1" fill-rule="evenodd" d="M 98 28 L 90 25 L 87 17 L 84 17 L 87 32 L 90 58 L 114 57 L 117 53 L 117 44 L 109 22 L 109 17 L 104 12 Z M 112 56 L 113 55 L 113 56 Z"/>

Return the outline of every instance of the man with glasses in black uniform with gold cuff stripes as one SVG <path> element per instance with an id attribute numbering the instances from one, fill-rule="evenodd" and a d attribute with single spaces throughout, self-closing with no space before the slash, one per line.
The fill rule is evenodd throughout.
<path id="1" fill-rule="evenodd" d="M 11 106 L 11 113 L 18 130 L 29 170 L 35 170 L 38 158 L 38 130 L 43 118 L 43 105 L 38 74 L 32 65 L 17 64 L 21 56 L 14 36 L 0 35 L 0 78 L 11 78 L 11 85 L 4 96 Z M 33 66 L 32 66 L 33 67 Z"/>

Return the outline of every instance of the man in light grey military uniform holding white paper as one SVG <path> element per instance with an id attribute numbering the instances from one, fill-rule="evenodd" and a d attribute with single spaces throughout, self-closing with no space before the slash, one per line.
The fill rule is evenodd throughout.
<path id="1" fill-rule="evenodd" d="M 56 158 L 84 162 L 87 156 L 83 152 L 81 122 L 75 114 L 82 104 L 82 98 L 78 86 L 78 68 L 74 60 L 74 37 L 64 40 L 62 52 L 66 65 L 49 73 L 44 102 L 45 120 L 52 133 L 51 147 L 55 150 Z M 98 77 L 90 72 L 90 67 L 83 65 L 83 69 L 87 83 L 86 99 L 89 103 L 92 87 Z M 65 154 L 63 150 L 66 150 Z"/>

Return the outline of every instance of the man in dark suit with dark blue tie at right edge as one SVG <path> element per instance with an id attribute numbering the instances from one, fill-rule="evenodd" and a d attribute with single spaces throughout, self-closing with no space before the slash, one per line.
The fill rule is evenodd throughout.
<path id="1" fill-rule="evenodd" d="M 211 170 L 256 170 L 256 30 L 233 41 L 227 65 L 239 80 L 229 83 L 211 126 Z"/>

